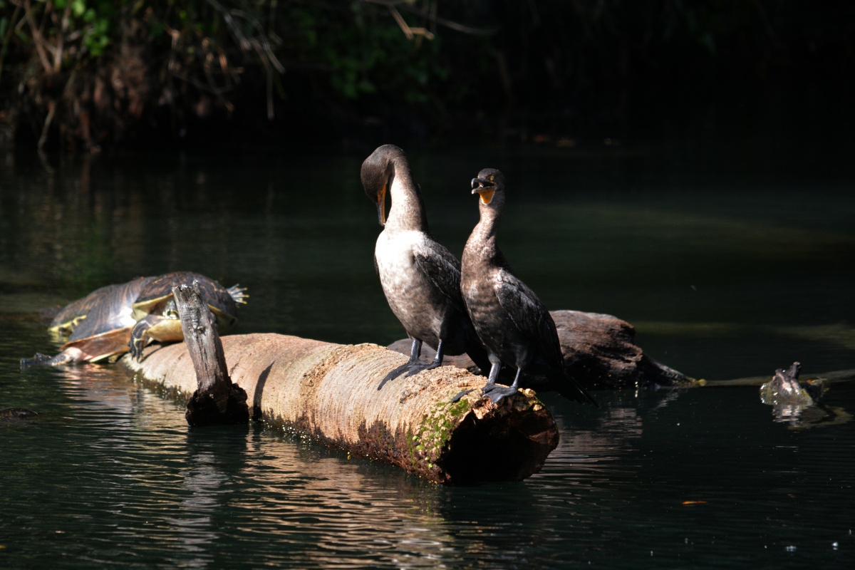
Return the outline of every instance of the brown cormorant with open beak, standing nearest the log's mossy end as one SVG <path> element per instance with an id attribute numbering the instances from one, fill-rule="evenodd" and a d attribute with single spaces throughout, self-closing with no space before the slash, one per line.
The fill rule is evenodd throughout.
<path id="1" fill-rule="evenodd" d="M 472 179 L 472 193 L 481 197 L 481 220 L 461 260 L 461 292 L 469 317 L 492 364 L 483 388 L 498 403 L 516 393 L 522 372 L 543 374 L 564 397 L 597 405 L 593 397 L 564 371 L 555 321 L 534 291 L 510 270 L 496 245 L 504 207 L 504 175 L 485 168 Z M 497 385 L 502 364 L 516 367 L 513 385 Z M 461 392 L 455 400 L 469 391 Z"/>

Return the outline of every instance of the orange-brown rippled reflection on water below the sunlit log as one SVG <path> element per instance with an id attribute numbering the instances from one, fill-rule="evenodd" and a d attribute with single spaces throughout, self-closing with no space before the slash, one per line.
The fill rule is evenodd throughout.
<path id="1" fill-rule="evenodd" d="M 435 567 L 452 537 L 437 515 L 439 487 L 393 467 L 257 433 L 243 476 L 260 491 L 233 506 L 259 513 L 253 536 L 274 540 L 295 566 Z"/>

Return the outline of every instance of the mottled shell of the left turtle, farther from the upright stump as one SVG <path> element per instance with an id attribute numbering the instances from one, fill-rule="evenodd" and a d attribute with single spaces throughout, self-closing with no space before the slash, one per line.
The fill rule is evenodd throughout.
<path id="1" fill-rule="evenodd" d="M 127 352 L 130 331 L 137 322 L 133 318 L 133 302 L 151 279 L 139 277 L 120 285 L 102 287 L 62 309 L 60 314 L 67 309 L 73 309 L 71 312 L 85 309 L 62 350 L 77 348 L 85 354 L 86 361 Z"/>

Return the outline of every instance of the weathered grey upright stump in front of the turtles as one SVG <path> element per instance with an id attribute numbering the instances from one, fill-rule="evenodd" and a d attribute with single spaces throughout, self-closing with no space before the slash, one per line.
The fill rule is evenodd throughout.
<path id="1" fill-rule="evenodd" d="M 197 381 L 197 389 L 187 401 L 187 423 L 211 426 L 249 422 L 246 392 L 228 377 L 216 319 L 202 296 L 199 282 L 173 287 L 172 294 Z"/>

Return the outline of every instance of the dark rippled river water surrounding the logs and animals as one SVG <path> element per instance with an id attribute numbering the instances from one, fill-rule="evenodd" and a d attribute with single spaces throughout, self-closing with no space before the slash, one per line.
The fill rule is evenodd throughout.
<path id="1" fill-rule="evenodd" d="M 804 148 L 410 151 L 458 254 L 502 168 L 505 255 L 551 309 L 616 314 L 705 379 L 855 368 L 855 175 Z M 367 153 L 364 153 L 367 154 Z M 756 387 L 543 396 L 522 483 L 445 488 L 260 426 L 191 430 L 112 366 L 31 369 L 43 309 L 139 274 L 249 288 L 240 332 L 403 336 L 336 156 L 50 158 L 0 170 L 0 567 L 849 567 L 855 385 L 776 420 Z M 849 563 L 846 560 L 850 561 Z"/>

